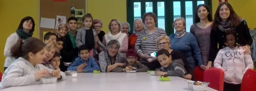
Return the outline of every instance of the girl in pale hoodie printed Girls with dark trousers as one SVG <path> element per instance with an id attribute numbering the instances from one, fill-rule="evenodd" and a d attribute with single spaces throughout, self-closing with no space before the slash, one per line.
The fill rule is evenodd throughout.
<path id="1" fill-rule="evenodd" d="M 214 67 L 224 71 L 224 91 L 240 91 L 244 73 L 253 69 L 252 57 L 244 54 L 245 50 L 237 44 L 234 30 L 226 30 L 224 38 L 226 47 L 219 50 Z"/>

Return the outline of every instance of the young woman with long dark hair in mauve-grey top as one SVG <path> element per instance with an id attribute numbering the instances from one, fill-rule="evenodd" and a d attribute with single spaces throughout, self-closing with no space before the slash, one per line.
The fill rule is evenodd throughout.
<path id="1" fill-rule="evenodd" d="M 191 25 L 190 33 L 192 33 L 197 39 L 204 65 L 206 65 L 204 69 L 206 70 L 213 66 L 213 60 L 208 61 L 212 29 L 210 9 L 205 4 L 198 5 L 196 7 L 195 17 L 195 24 Z"/>

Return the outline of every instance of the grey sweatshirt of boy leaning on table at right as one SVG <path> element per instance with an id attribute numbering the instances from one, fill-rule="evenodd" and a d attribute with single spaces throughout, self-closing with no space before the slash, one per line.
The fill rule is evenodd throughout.
<path id="1" fill-rule="evenodd" d="M 184 75 L 187 75 L 187 71 L 184 68 L 184 63 L 183 63 L 182 59 L 176 59 L 176 60 L 172 60 L 172 61 L 173 62 L 171 63 L 171 65 L 169 67 L 167 67 L 167 68 L 160 67 L 155 70 L 167 72 L 168 76 L 179 76 L 179 77 L 183 78 Z"/>

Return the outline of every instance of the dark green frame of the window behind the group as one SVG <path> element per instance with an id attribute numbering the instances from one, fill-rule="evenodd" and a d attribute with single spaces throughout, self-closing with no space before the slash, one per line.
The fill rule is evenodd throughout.
<path id="1" fill-rule="evenodd" d="M 152 2 L 153 4 L 153 12 L 157 12 L 157 2 L 164 2 L 165 5 L 165 32 L 167 36 L 170 34 L 174 33 L 174 28 L 172 27 L 173 23 L 173 1 L 180 1 L 181 3 L 181 11 L 185 11 L 185 1 L 192 1 L 192 6 L 193 6 L 193 24 L 194 19 L 195 19 L 195 9 L 197 7 L 197 1 L 204 1 L 204 4 L 208 6 L 210 9 L 210 12 L 212 14 L 212 0 L 126 0 L 127 1 L 127 22 L 131 25 L 131 30 L 130 32 L 132 33 L 133 31 L 133 21 L 134 21 L 134 7 L 133 3 L 134 2 L 140 2 L 140 11 L 141 11 L 141 18 L 143 14 L 146 12 L 146 2 Z M 144 7 L 144 8 L 143 8 Z M 155 13 L 155 15 L 158 17 L 158 14 Z M 212 16 L 212 15 L 211 15 Z M 185 12 L 181 12 L 181 17 L 186 18 Z M 158 24 L 156 24 L 158 26 Z"/>

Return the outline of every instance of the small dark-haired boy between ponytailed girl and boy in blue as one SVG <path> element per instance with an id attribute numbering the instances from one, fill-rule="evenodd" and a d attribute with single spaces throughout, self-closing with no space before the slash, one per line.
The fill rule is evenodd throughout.
<path id="1" fill-rule="evenodd" d="M 60 66 L 60 54 L 55 52 L 52 59 L 50 59 L 48 61 L 50 64 L 49 64 L 49 67 L 50 69 L 53 69 L 53 70 L 59 70 L 59 66 Z"/>

